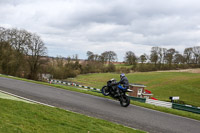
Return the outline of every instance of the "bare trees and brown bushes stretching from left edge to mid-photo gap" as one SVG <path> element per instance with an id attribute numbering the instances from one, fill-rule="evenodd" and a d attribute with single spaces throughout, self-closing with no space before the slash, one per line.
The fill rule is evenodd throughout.
<path id="1" fill-rule="evenodd" d="M 0 27 L 0 73 L 38 80 L 41 74 L 65 79 L 78 74 L 94 72 L 113 72 L 113 52 L 104 52 L 102 56 L 88 52 L 88 60 L 79 63 L 78 55 L 73 57 L 50 58 L 41 37 L 35 33 L 16 28 Z M 95 62 L 101 58 L 100 62 Z M 110 65 L 105 66 L 105 62 Z M 95 62 L 95 63 L 94 63 Z"/>

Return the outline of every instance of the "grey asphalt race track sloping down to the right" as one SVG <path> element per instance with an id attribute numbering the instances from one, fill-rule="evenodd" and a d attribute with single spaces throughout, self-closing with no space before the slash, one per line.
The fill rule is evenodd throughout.
<path id="1" fill-rule="evenodd" d="M 150 133 L 199 133 L 200 121 L 50 86 L 0 77 L 0 90 Z M 1 105 L 0 105 L 1 106 Z"/>

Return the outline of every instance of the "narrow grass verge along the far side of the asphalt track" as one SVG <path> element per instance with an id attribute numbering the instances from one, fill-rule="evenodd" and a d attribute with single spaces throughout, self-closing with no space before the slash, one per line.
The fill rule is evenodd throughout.
<path id="1" fill-rule="evenodd" d="M 8 77 L 8 76 L 5 76 L 5 75 L 0 75 L 0 77 L 6 77 L 6 78 L 12 78 L 12 79 L 17 79 L 17 80 L 27 81 L 27 82 L 33 82 L 33 83 L 37 83 L 37 84 L 43 84 L 43 85 L 48 85 L 48 86 L 57 87 L 57 88 L 61 88 L 61 89 L 66 89 L 66 90 L 71 90 L 71 91 L 76 91 L 76 92 L 81 92 L 81 93 L 86 93 L 86 94 L 91 94 L 91 95 L 95 95 L 95 96 L 99 96 L 99 97 L 112 99 L 111 97 L 103 96 L 101 93 L 80 90 L 80 89 L 77 89 L 77 88 L 71 87 L 71 86 L 49 84 L 49 83 L 45 83 L 45 82 L 33 81 L 33 80 L 28 80 L 28 79 L 23 79 L 23 78 Z M 155 105 L 151 105 L 151 104 L 147 104 L 147 103 L 140 103 L 140 102 L 136 102 L 136 101 L 131 101 L 131 104 L 141 106 L 141 107 L 145 107 L 145 108 L 149 108 L 149 109 L 153 109 L 153 110 L 157 110 L 157 111 L 161 111 L 161 112 L 165 112 L 165 113 L 170 113 L 170 114 L 175 114 L 175 115 L 179 115 L 179 116 L 183 116 L 183 117 L 188 117 L 188 118 L 192 118 L 192 119 L 195 119 L 195 120 L 200 120 L 200 114 L 195 114 L 195 113 L 176 110 L 176 109 L 159 107 L 159 106 L 155 106 Z"/>

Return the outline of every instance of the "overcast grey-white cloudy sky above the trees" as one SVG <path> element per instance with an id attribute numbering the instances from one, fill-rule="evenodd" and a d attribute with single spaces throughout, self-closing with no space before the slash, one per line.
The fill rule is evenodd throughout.
<path id="1" fill-rule="evenodd" d="M 200 46 L 199 0 L 0 0 L 0 27 L 41 36 L 49 56 Z"/>

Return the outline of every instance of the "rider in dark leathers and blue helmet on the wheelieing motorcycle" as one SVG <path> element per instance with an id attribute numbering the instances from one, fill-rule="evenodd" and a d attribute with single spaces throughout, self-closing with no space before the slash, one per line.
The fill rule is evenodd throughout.
<path id="1" fill-rule="evenodd" d="M 123 84 L 123 87 L 121 85 L 118 85 L 117 90 L 116 90 L 116 92 L 117 92 L 116 96 L 120 95 L 119 89 L 127 90 L 129 88 L 128 78 L 125 76 L 124 73 L 120 74 L 120 79 L 121 80 L 119 82 L 117 82 L 116 84 Z"/>

